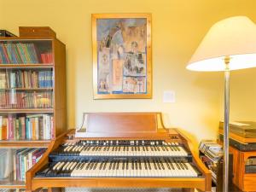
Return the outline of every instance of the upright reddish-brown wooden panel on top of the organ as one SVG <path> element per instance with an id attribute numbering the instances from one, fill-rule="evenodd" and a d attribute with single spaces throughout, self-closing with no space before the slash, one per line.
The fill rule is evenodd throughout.
<path id="1" fill-rule="evenodd" d="M 86 113 L 88 133 L 156 133 L 159 113 Z"/>

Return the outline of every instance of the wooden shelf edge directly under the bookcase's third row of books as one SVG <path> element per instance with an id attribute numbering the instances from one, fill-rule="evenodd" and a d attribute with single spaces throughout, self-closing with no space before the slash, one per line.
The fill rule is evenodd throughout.
<path id="1" fill-rule="evenodd" d="M 0 113 L 54 113 L 53 108 L 0 108 Z"/>

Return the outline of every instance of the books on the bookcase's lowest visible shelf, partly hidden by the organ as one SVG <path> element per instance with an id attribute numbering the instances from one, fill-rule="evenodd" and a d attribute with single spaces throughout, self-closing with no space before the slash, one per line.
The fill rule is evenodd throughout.
<path id="1" fill-rule="evenodd" d="M 14 180 L 25 181 L 28 171 L 43 156 L 45 148 L 22 148 L 14 154 Z"/>

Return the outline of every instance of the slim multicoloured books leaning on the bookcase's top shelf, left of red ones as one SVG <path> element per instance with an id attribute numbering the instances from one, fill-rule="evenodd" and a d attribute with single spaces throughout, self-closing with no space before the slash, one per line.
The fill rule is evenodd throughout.
<path id="1" fill-rule="evenodd" d="M 0 44 L 0 63 L 38 63 L 36 47 L 32 43 Z"/>

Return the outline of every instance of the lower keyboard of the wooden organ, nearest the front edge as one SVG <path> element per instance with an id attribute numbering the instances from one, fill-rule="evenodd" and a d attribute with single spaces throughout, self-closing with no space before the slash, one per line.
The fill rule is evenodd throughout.
<path id="1" fill-rule="evenodd" d="M 192 163 L 169 158 L 60 161 L 36 177 L 199 177 Z"/>

